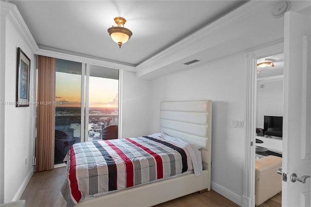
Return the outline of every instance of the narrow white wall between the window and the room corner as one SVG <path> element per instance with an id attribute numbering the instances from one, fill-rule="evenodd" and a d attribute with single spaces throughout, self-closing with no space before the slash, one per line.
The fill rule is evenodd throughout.
<path id="1" fill-rule="evenodd" d="M 150 83 L 135 72 L 121 71 L 121 138 L 149 135 Z"/>

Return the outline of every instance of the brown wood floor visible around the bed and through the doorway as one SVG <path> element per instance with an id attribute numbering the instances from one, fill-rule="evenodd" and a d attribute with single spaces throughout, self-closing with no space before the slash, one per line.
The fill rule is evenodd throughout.
<path id="1" fill-rule="evenodd" d="M 54 201 L 66 179 L 66 167 L 51 171 L 34 173 L 21 200 L 26 200 L 26 207 L 53 207 Z M 281 207 L 280 193 L 259 207 Z M 238 207 L 224 196 L 210 190 L 204 193 L 192 193 L 155 207 Z"/>

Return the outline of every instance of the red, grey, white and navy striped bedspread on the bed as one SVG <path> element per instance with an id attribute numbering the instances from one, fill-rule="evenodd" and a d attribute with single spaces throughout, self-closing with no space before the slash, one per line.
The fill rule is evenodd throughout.
<path id="1" fill-rule="evenodd" d="M 187 143 L 157 133 L 139 138 L 76 143 L 67 159 L 68 175 L 55 207 L 85 198 L 193 171 Z M 197 150 L 199 151 L 199 150 Z M 193 158 L 193 156 L 192 156 Z"/>

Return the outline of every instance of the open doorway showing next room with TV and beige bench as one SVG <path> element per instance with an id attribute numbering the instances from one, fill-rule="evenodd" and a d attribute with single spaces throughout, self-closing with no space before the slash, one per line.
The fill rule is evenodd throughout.
<path id="1" fill-rule="evenodd" d="M 284 54 L 257 60 L 255 205 L 281 207 Z"/>

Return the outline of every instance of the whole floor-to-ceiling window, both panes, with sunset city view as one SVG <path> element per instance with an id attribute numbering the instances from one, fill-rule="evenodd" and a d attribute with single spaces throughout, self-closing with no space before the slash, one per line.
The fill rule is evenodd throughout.
<path id="1" fill-rule="evenodd" d="M 118 69 L 56 59 L 55 77 L 54 164 L 74 143 L 118 138 Z"/>

